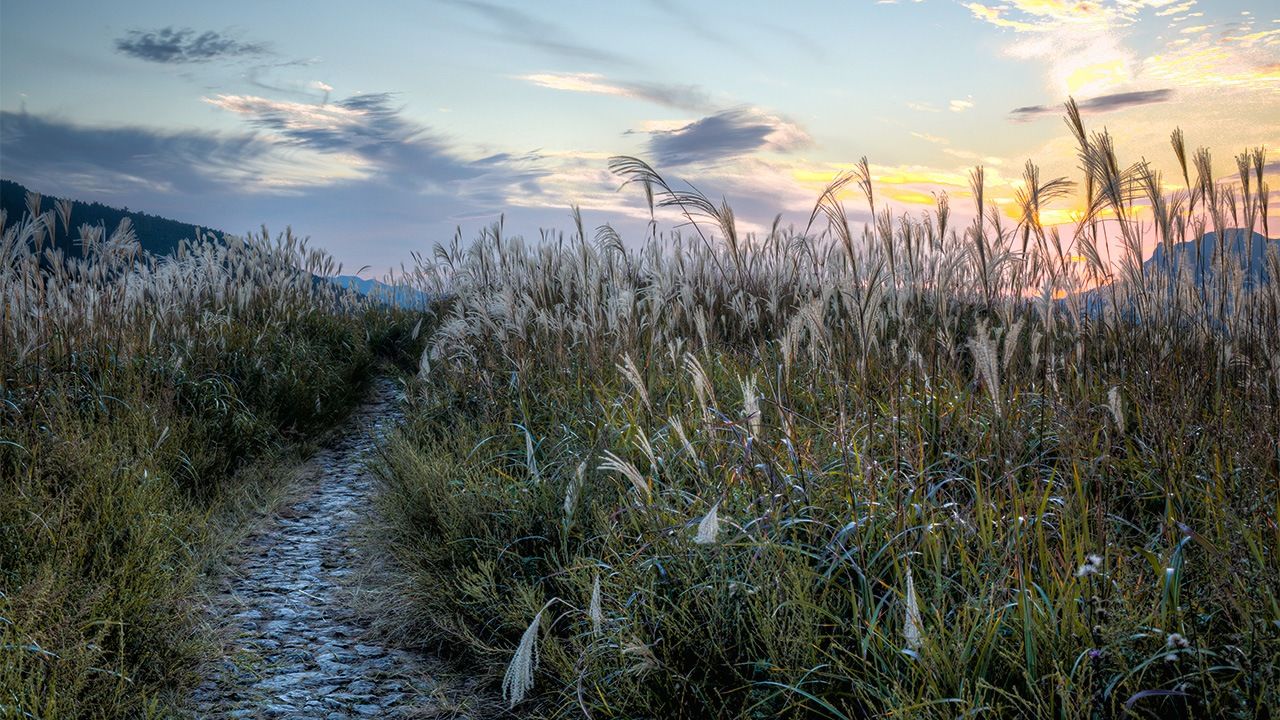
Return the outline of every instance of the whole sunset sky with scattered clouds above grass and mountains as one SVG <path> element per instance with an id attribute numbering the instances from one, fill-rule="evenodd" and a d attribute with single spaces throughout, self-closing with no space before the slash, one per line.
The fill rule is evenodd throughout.
<path id="1" fill-rule="evenodd" d="M 499 217 L 568 231 L 575 205 L 639 242 L 648 209 L 613 155 L 727 199 L 746 232 L 803 227 L 861 156 L 900 211 L 946 192 L 963 213 L 979 164 L 1011 205 L 1028 159 L 1079 177 L 1068 97 L 1170 187 L 1175 127 L 1220 176 L 1266 146 L 1276 177 L 1280 6 L 0 0 L 0 176 L 233 233 L 289 225 L 366 275 Z"/>

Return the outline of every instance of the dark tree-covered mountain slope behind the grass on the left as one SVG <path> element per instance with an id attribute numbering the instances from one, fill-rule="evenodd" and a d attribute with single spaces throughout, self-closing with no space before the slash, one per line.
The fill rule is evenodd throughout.
<path id="1" fill-rule="evenodd" d="M 24 214 L 28 213 L 27 209 L 27 192 L 28 190 L 13 181 L 0 179 L 0 208 L 5 210 L 8 224 L 17 223 L 22 219 Z M 40 201 L 41 213 L 55 209 L 55 202 L 58 197 L 44 196 Z M 221 237 L 224 233 L 212 228 L 197 228 L 191 223 L 180 223 L 178 220 L 170 220 L 169 218 L 160 218 L 157 215 L 148 215 L 147 213 L 138 213 L 136 210 L 129 210 L 128 208 L 111 208 L 109 205 L 102 205 L 101 202 L 81 202 L 78 200 L 72 201 L 72 215 L 70 215 L 70 232 L 63 232 L 61 220 L 58 220 L 58 234 L 56 246 L 63 249 L 70 258 L 77 258 L 81 255 L 79 243 L 76 241 L 79 238 L 79 227 L 83 224 L 90 225 L 102 225 L 106 228 L 104 237 L 110 237 L 115 228 L 120 224 L 120 220 L 129 218 L 133 223 L 133 231 L 138 236 L 138 242 L 142 249 L 152 255 L 169 255 L 178 249 L 178 243 L 183 240 L 195 240 L 197 236 L 197 229 L 202 229 L 206 233 L 212 232 L 215 236 Z"/>

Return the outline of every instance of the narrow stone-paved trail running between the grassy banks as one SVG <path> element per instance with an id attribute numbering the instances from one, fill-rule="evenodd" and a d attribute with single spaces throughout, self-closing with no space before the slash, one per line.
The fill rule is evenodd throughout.
<path id="1" fill-rule="evenodd" d="M 381 644 L 351 607 L 362 564 L 353 530 L 370 512 L 364 464 L 397 420 L 390 383 L 316 454 L 293 500 L 232 559 L 212 621 L 230 646 L 196 691 L 196 717 L 403 717 L 433 683 L 422 660 Z"/>

